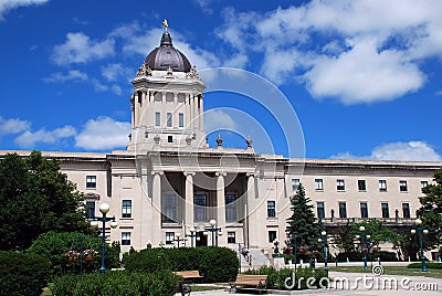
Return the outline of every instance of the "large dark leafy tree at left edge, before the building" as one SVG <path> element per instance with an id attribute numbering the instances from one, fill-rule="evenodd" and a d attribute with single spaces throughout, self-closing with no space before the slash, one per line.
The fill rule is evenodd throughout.
<path id="1" fill-rule="evenodd" d="M 24 250 L 50 230 L 90 233 L 83 195 L 55 159 L 32 151 L 0 159 L 0 250 Z"/>

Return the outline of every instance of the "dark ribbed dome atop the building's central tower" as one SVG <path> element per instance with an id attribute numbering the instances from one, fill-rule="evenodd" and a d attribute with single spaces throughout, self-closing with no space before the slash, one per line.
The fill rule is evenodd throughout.
<path id="1" fill-rule="evenodd" d="M 189 60 L 179 50 L 173 47 L 169 32 L 161 36 L 159 47 L 152 50 L 146 57 L 145 64 L 151 70 L 167 71 L 169 67 L 177 72 L 189 72 L 191 68 Z"/>

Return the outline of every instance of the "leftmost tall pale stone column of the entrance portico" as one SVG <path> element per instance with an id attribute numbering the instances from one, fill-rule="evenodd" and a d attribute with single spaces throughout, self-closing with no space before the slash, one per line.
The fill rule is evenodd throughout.
<path id="1" fill-rule="evenodd" d="M 152 171 L 152 219 L 151 219 L 151 233 L 152 244 L 159 245 L 162 240 L 161 236 L 161 175 L 162 171 Z"/>

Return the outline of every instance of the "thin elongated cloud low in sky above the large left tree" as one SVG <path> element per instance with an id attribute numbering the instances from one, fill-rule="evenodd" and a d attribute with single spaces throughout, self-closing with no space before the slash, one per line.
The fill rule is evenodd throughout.
<path id="1" fill-rule="evenodd" d="M 63 138 L 70 138 L 76 135 L 74 127 L 67 125 L 53 130 L 40 129 L 38 131 L 27 130 L 15 138 L 14 142 L 21 148 L 31 149 L 36 142 L 54 144 Z"/>

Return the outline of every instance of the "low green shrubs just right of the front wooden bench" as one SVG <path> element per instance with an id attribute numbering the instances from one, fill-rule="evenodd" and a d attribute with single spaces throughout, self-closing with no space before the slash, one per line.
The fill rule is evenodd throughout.
<path id="1" fill-rule="evenodd" d="M 307 278 L 312 278 L 308 282 L 311 286 L 320 287 L 322 284 L 324 287 L 328 283 L 328 271 L 322 268 L 297 268 L 295 272 L 291 268 L 276 269 L 273 266 L 261 266 L 257 269 L 246 271 L 244 274 L 267 275 L 267 288 L 275 289 L 307 289 L 309 288 L 307 286 Z M 293 279 L 295 279 L 294 284 Z M 290 288 L 291 286 L 293 287 Z"/>

